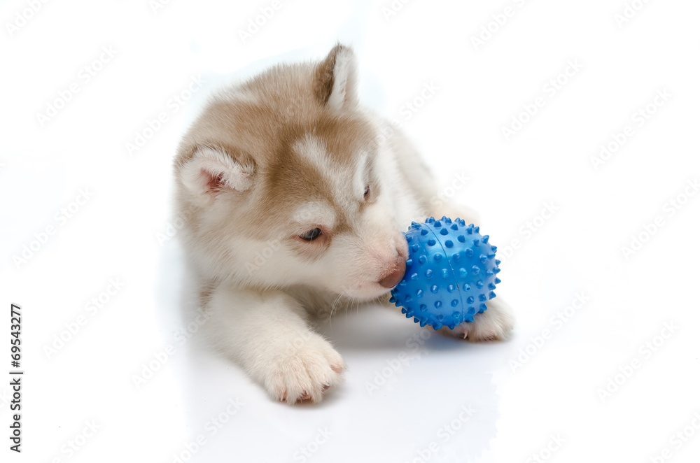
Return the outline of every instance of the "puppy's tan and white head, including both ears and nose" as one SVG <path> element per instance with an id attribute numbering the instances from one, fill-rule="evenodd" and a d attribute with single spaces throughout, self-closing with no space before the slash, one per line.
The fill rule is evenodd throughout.
<path id="1" fill-rule="evenodd" d="M 221 92 L 176 162 L 195 259 L 258 287 L 384 294 L 403 276 L 407 244 L 377 140 L 343 45 Z"/>

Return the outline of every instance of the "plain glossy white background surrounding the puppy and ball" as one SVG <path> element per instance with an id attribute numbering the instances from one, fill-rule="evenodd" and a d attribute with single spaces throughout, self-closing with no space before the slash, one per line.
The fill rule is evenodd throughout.
<path id="1" fill-rule="evenodd" d="M 245 40 L 239 31 L 271 1 L 62 1 L 36 13 L 29 3 L 0 3 L 0 339 L 10 302 L 20 304 L 25 371 L 21 455 L 8 450 L 0 380 L 3 461 L 186 461 L 200 435 L 190 461 L 698 460 L 700 195 L 685 189 L 700 176 L 699 3 L 636 0 L 621 22 L 622 0 L 414 0 L 394 2 L 395 14 L 389 0 L 294 0 Z M 493 32 L 475 43 L 482 27 Z M 407 341 L 421 330 L 398 309 L 340 314 L 322 329 L 349 365 L 346 382 L 318 406 L 290 407 L 196 336 L 175 336 L 193 316 L 193 288 L 167 236 L 172 157 L 218 85 L 321 59 L 337 40 L 356 50 L 364 103 L 398 120 L 429 159 L 445 189 L 435 194 L 452 194 L 458 173 L 470 178 L 454 194 L 499 245 L 499 297 L 517 327 L 507 343 L 429 336 L 416 350 Z M 101 55 L 87 82 L 83 68 Z M 570 62 L 580 69 L 566 76 Z M 197 76 L 201 89 L 174 105 Z M 78 92 L 42 123 L 71 84 Z M 538 98 L 534 115 L 521 114 Z M 159 113 L 167 122 L 130 155 L 127 143 Z M 505 136 L 518 116 L 527 122 Z M 591 157 L 611 143 L 595 169 Z M 90 199 L 75 211 L 81 189 Z M 545 204 L 556 208 L 546 219 Z M 71 218 L 57 218 L 62 208 Z M 650 228 L 657 217 L 663 225 Z M 32 244 L 35 234 L 45 243 Z M 633 236 L 644 243 L 624 255 Z M 512 240 L 519 248 L 506 256 Z M 35 249 L 26 259 L 25 245 Z M 89 311 L 110 279 L 123 288 Z M 567 309 L 577 293 L 589 299 Z M 159 363 L 167 346 L 174 353 Z M 410 361 L 393 371 L 400 352 Z M 8 341 L 0 359 L 5 378 Z M 137 386 L 148 364 L 158 371 Z M 242 405 L 227 414 L 230 399 Z M 99 429 L 85 432 L 93 420 Z M 685 441 L 672 438 L 684 429 Z"/>

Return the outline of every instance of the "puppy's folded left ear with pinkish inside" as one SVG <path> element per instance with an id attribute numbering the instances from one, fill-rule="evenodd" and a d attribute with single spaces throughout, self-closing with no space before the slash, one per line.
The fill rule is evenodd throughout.
<path id="1" fill-rule="evenodd" d="M 222 192 L 248 190 L 254 167 L 251 161 L 239 162 L 222 148 L 197 146 L 181 163 L 180 178 L 195 197 L 209 202 Z"/>

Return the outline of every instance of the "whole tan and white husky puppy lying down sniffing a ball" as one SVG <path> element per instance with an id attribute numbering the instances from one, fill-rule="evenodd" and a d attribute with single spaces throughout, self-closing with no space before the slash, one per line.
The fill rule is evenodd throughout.
<path id="1" fill-rule="evenodd" d="M 416 150 L 358 104 L 355 57 L 340 44 L 321 62 L 276 66 L 214 95 L 174 170 L 209 334 L 288 404 L 318 402 L 343 378 L 342 357 L 309 315 L 386 302 L 405 273 L 412 220 L 478 223 L 468 208 L 430 200 L 437 187 Z M 505 339 L 510 308 L 488 306 L 441 332 Z"/>

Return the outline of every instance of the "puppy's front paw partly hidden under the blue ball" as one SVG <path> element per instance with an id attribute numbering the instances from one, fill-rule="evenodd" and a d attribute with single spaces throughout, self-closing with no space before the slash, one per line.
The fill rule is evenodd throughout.
<path id="1" fill-rule="evenodd" d="M 473 343 L 480 341 L 506 341 L 510 338 L 515 318 L 512 309 L 501 299 L 491 299 L 486 303 L 488 308 L 478 313 L 473 322 L 464 322 L 449 329 L 442 327 L 440 332 L 449 336 L 457 336 Z"/>

